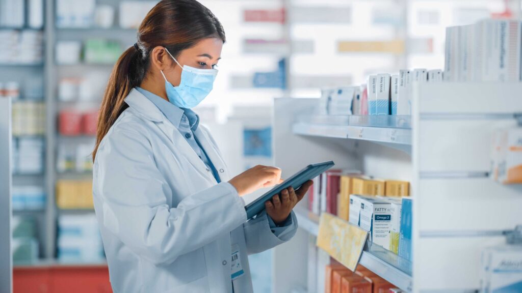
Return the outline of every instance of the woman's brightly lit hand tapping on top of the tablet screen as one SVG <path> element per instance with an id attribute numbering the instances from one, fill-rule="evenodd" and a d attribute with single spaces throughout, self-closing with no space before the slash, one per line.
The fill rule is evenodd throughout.
<path id="1" fill-rule="evenodd" d="M 259 188 L 274 186 L 280 184 L 282 181 L 281 169 L 257 165 L 230 179 L 229 183 L 238 191 L 239 196 L 242 197 Z"/>

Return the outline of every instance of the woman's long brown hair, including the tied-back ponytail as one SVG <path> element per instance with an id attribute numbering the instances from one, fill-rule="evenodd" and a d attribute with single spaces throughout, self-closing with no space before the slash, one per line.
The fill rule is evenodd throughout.
<path id="1" fill-rule="evenodd" d="M 101 140 L 128 107 L 125 97 L 145 78 L 150 51 L 164 46 L 177 57 L 206 38 L 220 38 L 224 43 L 225 33 L 216 16 L 196 0 L 162 0 L 149 11 L 139 26 L 138 41 L 123 52 L 112 69 L 98 117 L 93 161 Z"/>

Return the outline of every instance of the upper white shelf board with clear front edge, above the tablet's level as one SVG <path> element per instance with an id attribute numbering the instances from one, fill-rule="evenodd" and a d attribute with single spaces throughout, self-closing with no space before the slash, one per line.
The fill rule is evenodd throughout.
<path id="1" fill-rule="evenodd" d="M 372 141 L 411 153 L 409 116 L 301 117 L 292 131 L 297 135 Z"/>

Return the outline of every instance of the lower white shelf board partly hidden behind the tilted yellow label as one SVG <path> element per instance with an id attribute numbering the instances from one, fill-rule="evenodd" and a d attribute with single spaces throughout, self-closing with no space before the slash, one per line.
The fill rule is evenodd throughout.
<path id="1" fill-rule="evenodd" d="M 319 224 L 307 216 L 304 210 L 294 210 L 299 227 L 317 237 Z M 400 258 L 397 254 L 366 242 L 359 263 L 388 282 L 406 292 L 413 290 L 411 262 Z"/>

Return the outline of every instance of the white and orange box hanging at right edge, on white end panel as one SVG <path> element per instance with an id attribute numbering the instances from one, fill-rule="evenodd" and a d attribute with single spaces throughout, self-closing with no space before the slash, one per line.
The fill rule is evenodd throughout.
<path id="1" fill-rule="evenodd" d="M 498 180 L 503 184 L 522 183 L 522 127 L 499 133 Z"/>

